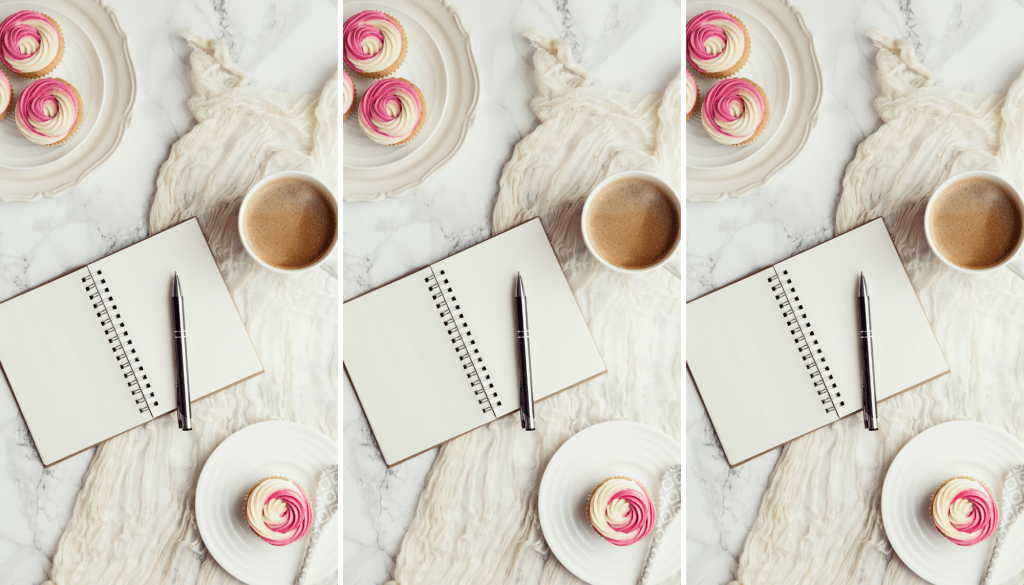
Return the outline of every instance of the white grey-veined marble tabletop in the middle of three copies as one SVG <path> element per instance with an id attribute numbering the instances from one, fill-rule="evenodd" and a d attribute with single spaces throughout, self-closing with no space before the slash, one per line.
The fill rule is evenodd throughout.
<path id="1" fill-rule="evenodd" d="M 451 164 L 422 187 L 379 203 L 345 203 L 344 299 L 489 236 L 502 167 L 537 125 L 526 27 L 565 40 L 598 86 L 657 92 L 679 72 L 678 0 L 450 1 L 473 38 L 480 70 L 476 122 Z M 347 377 L 342 409 L 343 580 L 379 584 L 390 577 L 437 450 L 388 470 Z"/>

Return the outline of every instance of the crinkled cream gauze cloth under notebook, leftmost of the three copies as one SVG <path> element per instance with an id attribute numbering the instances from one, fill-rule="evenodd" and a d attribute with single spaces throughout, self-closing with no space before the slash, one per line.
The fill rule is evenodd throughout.
<path id="1" fill-rule="evenodd" d="M 223 43 L 190 30 L 182 37 L 197 124 L 160 169 L 150 234 L 199 217 L 265 373 L 196 403 L 190 433 L 172 415 L 100 446 L 46 585 L 238 583 L 205 554 L 196 525 L 207 458 L 265 420 L 302 422 L 337 441 L 337 281 L 259 267 L 236 223 L 241 198 L 265 174 L 299 169 L 337 185 L 337 76 L 319 94 L 246 87 Z"/>

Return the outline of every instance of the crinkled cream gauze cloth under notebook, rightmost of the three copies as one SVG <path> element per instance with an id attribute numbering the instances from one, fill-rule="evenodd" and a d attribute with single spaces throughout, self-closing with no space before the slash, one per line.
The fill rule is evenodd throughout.
<path id="1" fill-rule="evenodd" d="M 883 124 L 846 169 L 836 233 L 885 218 L 951 373 L 880 405 L 878 449 L 858 450 L 868 440 L 856 416 L 790 443 L 739 558 L 743 585 L 922 583 L 891 554 L 882 526 L 882 482 L 896 453 L 950 420 L 1024 440 L 1024 282 L 947 268 L 923 223 L 928 197 L 952 174 L 989 170 L 1024 186 L 1024 76 L 1006 94 L 935 87 L 908 43 L 873 29 L 868 37 Z"/>

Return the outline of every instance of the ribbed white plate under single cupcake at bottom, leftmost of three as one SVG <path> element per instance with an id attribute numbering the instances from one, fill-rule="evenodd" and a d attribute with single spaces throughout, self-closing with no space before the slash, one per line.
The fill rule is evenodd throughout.
<path id="1" fill-rule="evenodd" d="M 316 503 L 316 479 L 338 463 L 338 446 L 317 430 L 274 420 L 243 428 L 221 443 L 199 476 L 196 521 L 207 550 L 236 579 L 249 585 L 292 585 L 309 542 L 308 533 L 286 546 L 263 542 L 246 524 L 246 494 L 260 479 L 295 479 Z M 315 515 L 315 510 L 313 510 Z M 328 523 L 309 570 L 309 583 L 338 570 L 338 515 Z"/>

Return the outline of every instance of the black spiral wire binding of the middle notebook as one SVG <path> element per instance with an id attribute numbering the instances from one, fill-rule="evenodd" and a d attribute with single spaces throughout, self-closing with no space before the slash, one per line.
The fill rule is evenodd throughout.
<path id="1" fill-rule="evenodd" d="M 457 304 L 459 300 L 453 292 L 454 286 L 450 280 L 451 277 L 444 276 L 444 270 L 435 275 L 431 267 L 430 276 L 425 278 L 424 282 L 430 285 L 427 290 L 430 291 L 431 298 L 441 319 L 444 320 L 445 330 L 455 345 L 455 352 L 459 354 L 462 369 L 466 371 L 466 378 L 470 382 L 473 394 L 476 395 L 477 404 L 481 406 L 483 412 L 494 413 L 494 407 L 500 407 L 502 403 L 497 400 L 498 391 L 490 381 L 490 374 L 487 373 L 487 366 L 483 362 L 480 348 L 474 347 L 476 340 L 472 338 L 473 332 L 469 330 L 469 322 L 465 314 L 459 312 L 462 307 Z M 494 405 L 490 403 L 492 399 L 495 399 Z"/>

